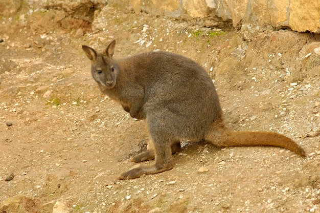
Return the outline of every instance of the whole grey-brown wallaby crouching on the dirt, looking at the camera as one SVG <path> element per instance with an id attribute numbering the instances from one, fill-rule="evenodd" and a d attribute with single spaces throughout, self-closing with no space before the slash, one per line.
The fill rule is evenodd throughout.
<path id="1" fill-rule="evenodd" d="M 306 156 L 300 145 L 283 135 L 228 129 L 212 79 L 193 60 L 161 51 L 116 60 L 115 46 L 112 40 L 102 54 L 88 46 L 82 49 L 101 91 L 131 117 L 146 120 L 153 149 L 132 161 L 155 159 L 155 164 L 133 168 L 120 179 L 172 169 L 172 154 L 180 151 L 181 140 L 207 140 L 217 146 L 280 146 Z"/>

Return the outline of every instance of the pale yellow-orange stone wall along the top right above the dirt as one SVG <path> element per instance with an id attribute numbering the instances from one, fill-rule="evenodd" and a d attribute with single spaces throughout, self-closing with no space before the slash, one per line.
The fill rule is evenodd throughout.
<path id="1" fill-rule="evenodd" d="M 320 2 L 290 0 L 131 0 L 135 12 L 145 10 L 154 14 L 187 15 L 193 18 L 232 20 L 238 29 L 243 24 L 271 26 L 276 29 L 320 33 Z"/>

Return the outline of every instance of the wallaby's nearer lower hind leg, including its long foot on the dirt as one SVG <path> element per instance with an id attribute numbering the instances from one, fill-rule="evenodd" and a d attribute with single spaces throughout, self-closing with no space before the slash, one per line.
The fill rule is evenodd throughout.
<path id="1" fill-rule="evenodd" d="M 151 133 L 151 132 L 150 132 Z M 153 138 L 153 147 L 155 152 L 155 164 L 142 165 L 133 168 L 128 172 L 121 174 L 119 179 L 133 179 L 139 178 L 143 174 L 161 173 L 173 168 L 170 137 L 163 137 L 163 133 L 151 133 Z"/>

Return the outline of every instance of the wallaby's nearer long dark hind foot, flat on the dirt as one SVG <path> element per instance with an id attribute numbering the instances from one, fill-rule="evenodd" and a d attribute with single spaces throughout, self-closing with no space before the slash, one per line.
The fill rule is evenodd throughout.
<path id="1" fill-rule="evenodd" d="M 156 174 L 156 173 L 162 173 L 165 171 L 168 171 L 173 168 L 173 164 L 164 165 L 162 167 L 154 165 L 148 165 L 148 166 L 140 166 L 137 168 L 132 168 L 128 172 L 122 173 L 119 177 L 120 180 L 128 180 L 128 179 L 134 179 L 139 178 L 143 174 Z"/>

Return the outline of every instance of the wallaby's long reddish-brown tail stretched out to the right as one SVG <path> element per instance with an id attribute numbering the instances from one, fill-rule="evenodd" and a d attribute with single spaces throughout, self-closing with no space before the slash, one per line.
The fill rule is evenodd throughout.
<path id="1" fill-rule="evenodd" d="M 306 156 L 303 148 L 290 138 L 272 132 L 233 132 L 223 142 L 225 146 L 280 146 L 287 148 L 303 157 Z"/>

